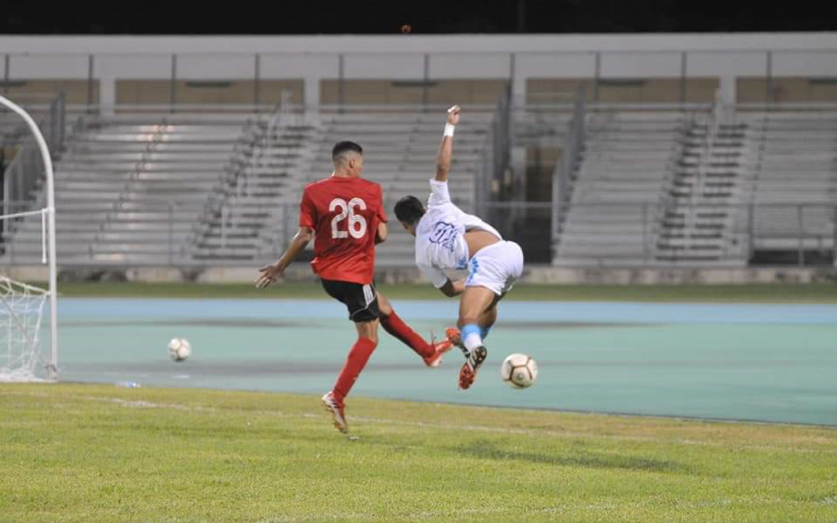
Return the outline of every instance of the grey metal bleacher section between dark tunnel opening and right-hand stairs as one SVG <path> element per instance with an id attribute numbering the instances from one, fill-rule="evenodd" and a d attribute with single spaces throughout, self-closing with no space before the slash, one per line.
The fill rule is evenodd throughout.
<path id="1" fill-rule="evenodd" d="M 594 113 L 557 247 L 557 265 L 642 264 L 653 257 L 663 188 L 691 116 Z"/>

